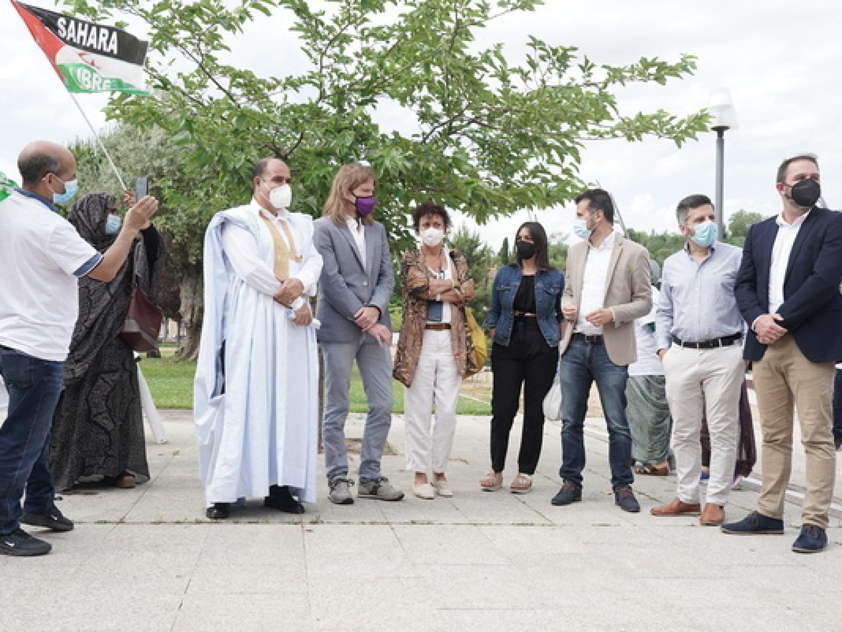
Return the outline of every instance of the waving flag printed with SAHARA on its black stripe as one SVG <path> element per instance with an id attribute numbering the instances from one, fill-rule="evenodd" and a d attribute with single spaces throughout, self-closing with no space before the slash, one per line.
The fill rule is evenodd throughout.
<path id="1" fill-rule="evenodd" d="M 147 42 L 113 26 L 12 4 L 68 92 L 148 94 L 143 88 Z"/>

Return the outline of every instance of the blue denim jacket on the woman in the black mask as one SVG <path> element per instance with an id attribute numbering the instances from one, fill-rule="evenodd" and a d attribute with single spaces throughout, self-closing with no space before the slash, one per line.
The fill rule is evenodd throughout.
<path id="1" fill-rule="evenodd" d="M 496 327 L 494 342 L 509 346 L 514 326 L 512 305 L 514 296 L 520 287 L 522 272 L 520 265 L 510 264 L 500 268 L 494 277 L 491 290 L 491 308 L 484 327 Z M 535 276 L 535 303 L 538 314 L 538 326 L 546 339 L 546 344 L 558 346 L 558 324 L 562 316 L 561 297 L 564 291 L 564 275 L 559 270 L 538 270 Z"/>

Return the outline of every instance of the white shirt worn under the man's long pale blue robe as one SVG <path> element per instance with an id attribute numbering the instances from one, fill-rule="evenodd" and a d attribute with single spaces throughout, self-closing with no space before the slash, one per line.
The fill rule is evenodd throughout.
<path id="1" fill-rule="evenodd" d="M 296 228 L 296 222 L 292 221 L 290 212 L 283 210 L 279 211 L 277 215 L 272 215 L 258 205 L 257 201 L 252 201 L 250 210 L 256 215 L 268 218 L 278 228 L 281 238 L 285 241 L 286 235 L 283 228 L 280 227 L 280 222 L 287 222 L 290 233 L 296 240 L 296 254 L 303 252 L 304 249 L 301 248 L 300 242 L 306 238 L 306 235 Z M 287 244 L 287 246 L 289 245 Z M 248 230 L 232 222 L 226 222 L 222 226 L 222 248 L 225 249 L 225 254 L 231 261 L 237 275 L 242 276 L 242 279 L 248 285 L 258 292 L 271 296 L 280 291 L 281 282 L 274 276 L 274 271 L 258 256 L 254 236 Z M 310 249 L 310 252 L 311 254 L 301 263 L 301 268 L 295 274 L 290 274 L 290 278 L 301 281 L 305 295 L 312 297 L 316 295 L 318 277 L 322 270 L 322 255 L 318 254 L 315 248 Z M 293 262 L 290 261 L 290 265 L 293 265 Z M 301 308 L 304 303 L 304 297 L 298 297 L 290 305 L 290 308 L 293 310 Z"/>

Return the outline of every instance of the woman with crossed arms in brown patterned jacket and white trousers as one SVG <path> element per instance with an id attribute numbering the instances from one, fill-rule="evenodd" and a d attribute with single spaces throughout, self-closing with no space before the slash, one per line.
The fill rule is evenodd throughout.
<path id="1" fill-rule="evenodd" d="M 474 282 L 465 257 L 445 248 L 450 216 L 444 206 L 419 205 L 413 212 L 413 226 L 422 245 L 403 255 L 403 324 L 394 376 L 406 387 L 407 468 L 415 473 L 413 493 L 432 500 L 436 494 L 453 495 L 445 468 L 466 371 L 463 307 L 474 297 Z"/>

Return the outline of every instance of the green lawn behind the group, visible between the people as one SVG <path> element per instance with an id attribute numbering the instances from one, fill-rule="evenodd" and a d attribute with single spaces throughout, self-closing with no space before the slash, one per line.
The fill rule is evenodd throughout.
<path id="1" fill-rule="evenodd" d="M 152 391 L 152 399 L 155 400 L 155 405 L 158 408 L 180 410 L 193 408 L 195 362 L 173 357 L 143 358 L 140 367 L 143 375 L 147 378 L 149 389 Z M 463 383 L 462 390 L 471 392 L 468 383 Z M 395 380 L 392 380 L 392 394 L 395 398 L 392 412 L 400 415 L 403 413 L 403 386 Z M 365 388 L 363 388 L 362 379 L 356 367 L 354 367 L 354 373 L 351 376 L 350 399 L 351 412 L 365 413 L 368 411 L 365 404 Z M 460 397 L 456 412 L 459 415 L 491 415 L 491 404 Z"/>

